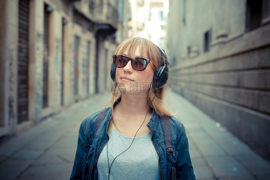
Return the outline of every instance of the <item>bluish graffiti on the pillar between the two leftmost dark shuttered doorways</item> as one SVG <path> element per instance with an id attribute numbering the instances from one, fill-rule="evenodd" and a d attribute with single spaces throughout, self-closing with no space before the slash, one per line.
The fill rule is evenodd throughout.
<path id="1" fill-rule="evenodd" d="M 35 88 L 35 119 L 41 119 L 41 110 L 42 110 L 42 60 L 43 60 L 43 34 L 36 34 L 36 88 Z"/>

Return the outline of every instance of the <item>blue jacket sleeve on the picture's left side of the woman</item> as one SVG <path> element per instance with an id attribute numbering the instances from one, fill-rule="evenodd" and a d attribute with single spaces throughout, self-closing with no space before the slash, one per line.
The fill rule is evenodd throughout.
<path id="1" fill-rule="evenodd" d="M 81 123 L 79 129 L 79 137 L 78 137 L 78 145 L 75 155 L 75 160 L 73 164 L 72 173 L 70 176 L 70 180 L 82 179 L 82 161 L 83 161 L 83 152 L 84 152 L 84 121 Z"/>

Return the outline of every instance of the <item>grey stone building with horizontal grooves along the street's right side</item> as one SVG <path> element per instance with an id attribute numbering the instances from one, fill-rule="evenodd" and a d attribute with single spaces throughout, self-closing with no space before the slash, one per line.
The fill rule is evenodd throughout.
<path id="1" fill-rule="evenodd" d="M 270 160 L 270 1 L 170 0 L 167 36 L 172 89 Z"/>

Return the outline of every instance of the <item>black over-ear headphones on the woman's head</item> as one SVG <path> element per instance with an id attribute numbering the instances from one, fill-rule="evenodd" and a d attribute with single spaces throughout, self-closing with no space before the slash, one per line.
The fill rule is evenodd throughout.
<path id="1" fill-rule="evenodd" d="M 161 50 L 159 48 L 159 50 L 160 50 L 162 56 L 164 57 L 164 64 L 165 65 L 164 66 L 159 66 L 158 70 L 154 74 L 152 87 L 155 90 L 158 90 L 159 88 L 164 87 L 165 84 L 168 82 L 168 79 L 169 79 L 169 68 L 168 68 L 169 62 L 167 60 L 167 55 L 166 55 L 164 49 Z M 115 80 L 115 74 L 116 74 L 116 67 L 112 63 L 111 64 L 111 79 L 112 79 L 112 81 Z"/>

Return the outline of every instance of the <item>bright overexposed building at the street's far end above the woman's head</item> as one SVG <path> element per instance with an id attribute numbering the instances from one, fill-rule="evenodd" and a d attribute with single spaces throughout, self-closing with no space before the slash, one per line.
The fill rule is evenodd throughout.
<path id="1" fill-rule="evenodd" d="M 132 21 L 130 21 L 131 29 L 128 35 L 146 38 L 164 47 L 168 3 L 167 0 L 131 1 Z"/>

